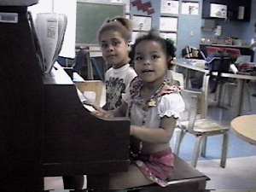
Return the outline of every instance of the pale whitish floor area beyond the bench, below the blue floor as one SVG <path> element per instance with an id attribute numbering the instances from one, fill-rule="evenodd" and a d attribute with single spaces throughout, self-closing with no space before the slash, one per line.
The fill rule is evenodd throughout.
<path id="1" fill-rule="evenodd" d="M 229 158 L 227 166 L 219 160 L 199 160 L 197 170 L 211 178 L 207 189 L 256 190 L 256 156 Z"/>

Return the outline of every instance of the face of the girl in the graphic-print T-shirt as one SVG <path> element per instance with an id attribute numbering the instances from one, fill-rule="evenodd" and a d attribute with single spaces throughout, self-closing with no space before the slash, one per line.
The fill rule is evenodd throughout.
<path id="1" fill-rule="evenodd" d="M 105 31 L 100 36 L 102 57 L 113 68 L 124 66 L 129 61 L 128 44 L 117 31 Z"/>

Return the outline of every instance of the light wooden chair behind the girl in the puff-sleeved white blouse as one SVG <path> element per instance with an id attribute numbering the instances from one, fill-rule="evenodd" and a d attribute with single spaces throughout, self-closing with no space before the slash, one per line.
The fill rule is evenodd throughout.
<path id="1" fill-rule="evenodd" d="M 202 156 L 206 156 L 207 137 L 223 135 L 220 166 L 225 167 L 229 128 L 219 125 L 212 119 L 207 119 L 207 93 L 204 93 L 204 91 L 183 90 L 182 96 L 186 105 L 187 120 L 180 121 L 177 125 L 181 131 L 177 137 L 174 153 L 178 155 L 183 137 L 189 132 L 196 137 L 191 161 L 191 165 L 196 166 L 200 152 Z M 201 113 L 200 117 L 198 117 L 199 113 Z"/>

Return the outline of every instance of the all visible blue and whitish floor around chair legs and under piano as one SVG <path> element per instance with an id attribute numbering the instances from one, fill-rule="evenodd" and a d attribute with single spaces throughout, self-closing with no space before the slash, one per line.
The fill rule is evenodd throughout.
<path id="1" fill-rule="evenodd" d="M 253 88 L 254 92 L 256 92 L 255 88 Z M 213 100 L 213 97 L 211 95 L 209 99 Z M 245 98 L 248 97 L 245 96 Z M 250 98 L 251 104 L 249 105 L 246 99 L 242 114 L 256 113 L 256 97 L 250 95 Z M 214 105 L 210 105 L 208 116 L 227 126 L 230 126 L 230 120 L 234 118 L 231 116 L 230 108 L 217 108 Z M 188 162 L 191 158 L 193 139 L 191 136 L 186 136 L 180 150 L 180 157 Z M 255 192 L 256 146 L 242 141 L 230 131 L 227 164 L 225 168 L 221 168 L 219 166 L 220 144 L 220 137 L 208 139 L 207 158 L 201 158 L 196 167 L 211 178 L 207 182 L 207 189 L 216 189 L 216 192 Z M 61 177 L 45 177 L 44 181 L 45 189 L 63 189 Z"/>

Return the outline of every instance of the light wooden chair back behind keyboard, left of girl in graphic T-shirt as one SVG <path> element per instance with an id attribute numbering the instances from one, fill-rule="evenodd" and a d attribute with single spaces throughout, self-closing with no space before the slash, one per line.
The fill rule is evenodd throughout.
<path id="1" fill-rule="evenodd" d="M 94 92 L 95 93 L 95 102 L 97 106 L 102 106 L 102 96 L 104 90 L 104 83 L 102 80 L 86 80 L 84 82 L 77 82 L 75 83 L 76 87 L 85 95 L 86 92 Z M 86 97 L 86 96 L 85 96 Z"/>

